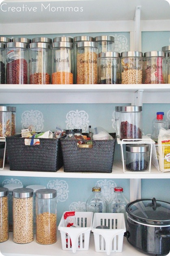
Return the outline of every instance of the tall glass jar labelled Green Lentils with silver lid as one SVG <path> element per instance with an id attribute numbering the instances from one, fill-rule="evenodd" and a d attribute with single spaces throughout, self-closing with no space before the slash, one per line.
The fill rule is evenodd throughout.
<path id="1" fill-rule="evenodd" d="M 97 43 L 77 43 L 77 84 L 97 84 Z"/>

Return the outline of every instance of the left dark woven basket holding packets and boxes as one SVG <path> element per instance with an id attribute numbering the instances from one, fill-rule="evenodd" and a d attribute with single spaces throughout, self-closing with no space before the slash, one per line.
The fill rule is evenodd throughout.
<path id="1" fill-rule="evenodd" d="M 21 135 L 6 137 L 11 171 L 56 172 L 63 165 L 60 139 L 39 138 L 40 144 L 26 146 Z"/>

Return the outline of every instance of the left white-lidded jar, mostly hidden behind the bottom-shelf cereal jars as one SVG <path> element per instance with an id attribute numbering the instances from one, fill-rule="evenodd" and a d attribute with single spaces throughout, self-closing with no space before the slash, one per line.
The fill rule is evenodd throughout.
<path id="1" fill-rule="evenodd" d="M 10 183 L 5 184 L 4 188 L 8 188 L 9 195 L 8 195 L 8 201 L 9 201 L 9 231 L 13 231 L 13 190 L 16 188 L 23 188 L 22 184 L 16 184 L 16 183 Z"/>

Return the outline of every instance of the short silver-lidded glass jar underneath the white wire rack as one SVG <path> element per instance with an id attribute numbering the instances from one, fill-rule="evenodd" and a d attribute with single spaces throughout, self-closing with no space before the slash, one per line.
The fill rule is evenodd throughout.
<path id="1" fill-rule="evenodd" d="M 129 144 L 126 145 L 126 170 L 147 171 L 148 170 L 148 145 Z"/>

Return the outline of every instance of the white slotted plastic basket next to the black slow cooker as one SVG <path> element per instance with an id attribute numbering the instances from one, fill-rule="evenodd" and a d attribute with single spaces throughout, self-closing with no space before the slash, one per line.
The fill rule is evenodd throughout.
<path id="1" fill-rule="evenodd" d="M 105 225 L 109 229 L 99 229 L 97 226 Z M 122 252 L 123 236 L 126 231 L 124 213 L 95 213 L 92 224 L 95 239 L 95 251 Z"/>

